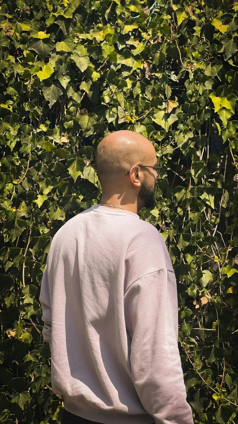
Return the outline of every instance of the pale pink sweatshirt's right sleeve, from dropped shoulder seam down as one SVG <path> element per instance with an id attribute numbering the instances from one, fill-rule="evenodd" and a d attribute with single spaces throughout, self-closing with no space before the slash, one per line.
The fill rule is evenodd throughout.
<path id="1" fill-rule="evenodd" d="M 161 269 L 135 281 L 124 295 L 131 339 L 131 377 L 156 424 L 193 424 L 178 346 L 178 298 L 173 271 Z"/>

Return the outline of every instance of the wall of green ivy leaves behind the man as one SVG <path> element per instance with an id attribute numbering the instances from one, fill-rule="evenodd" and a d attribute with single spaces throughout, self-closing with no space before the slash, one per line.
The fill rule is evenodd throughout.
<path id="1" fill-rule="evenodd" d="M 164 164 L 140 219 L 176 271 L 194 423 L 238 423 L 237 12 L 232 0 L 1 2 L 0 422 L 60 422 L 42 275 L 54 234 L 100 202 L 94 149 L 126 128 Z"/>

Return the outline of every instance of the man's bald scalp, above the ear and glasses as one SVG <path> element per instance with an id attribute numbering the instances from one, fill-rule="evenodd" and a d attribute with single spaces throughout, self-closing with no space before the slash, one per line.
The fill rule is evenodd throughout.
<path id="1" fill-rule="evenodd" d="M 121 186 L 124 172 L 133 165 L 149 165 L 155 156 L 152 143 L 139 133 L 121 130 L 109 134 L 95 152 L 95 166 L 102 188 Z"/>

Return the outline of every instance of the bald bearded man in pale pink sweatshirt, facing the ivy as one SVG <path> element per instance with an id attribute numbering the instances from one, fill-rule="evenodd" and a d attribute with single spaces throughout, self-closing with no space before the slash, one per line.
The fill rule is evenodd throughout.
<path id="1" fill-rule="evenodd" d="M 41 286 L 62 423 L 193 424 L 175 274 L 160 233 L 138 215 L 155 204 L 155 149 L 117 131 L 95 155 L 101 203 L 56 233 Z"/>

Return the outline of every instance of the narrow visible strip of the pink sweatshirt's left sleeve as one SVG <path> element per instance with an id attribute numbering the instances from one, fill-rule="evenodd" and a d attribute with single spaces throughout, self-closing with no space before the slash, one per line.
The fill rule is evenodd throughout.
<path id="1" fill-rule="evenodd" d="M 48 341 L 50 343 L 50 348 L 51 348 L 52 317 L 51 317 L 51 298 L 50 298 L 47 265 L 44 269 L 44 273 L 42 277 L 39 300 L 42 306 L 42 321 L 44 321 L 42 336 L 45 341 Z"/>

